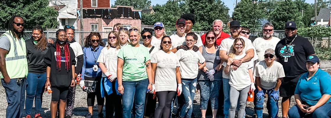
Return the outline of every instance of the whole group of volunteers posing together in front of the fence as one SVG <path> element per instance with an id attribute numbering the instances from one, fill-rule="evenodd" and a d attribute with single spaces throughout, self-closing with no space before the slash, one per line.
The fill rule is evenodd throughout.
<path id="1" fill-rule="evenodd" d="M 213 118 L 221 107 L 225 118 L 244 118 L 252 94 L 258 118 L 264 98 L 268 118 L 278 118 L 279 97 L 283 118 L 331 117 L 331 77 L 319 69 L 314 48 L 297 35 L 293 21 L 285 24 L 286 38 L 274 37 L 268 22 L 252 43 L 250 29 L 236 20 L 230 22 L 230 35 L 222 31 L 221 20 L 214 20 L 212 30 L 200 37 L 191 31 L 195 17 L 188 13 L 176 20 L 177 31 L 170 36 L 162 22 L 142 31 L 117 23 L 106 42 L 91 32 L 83 47 L 73 26 L 56 31 L 53 42 L 39 25 L 24 40 L 20 16 L 8 22 L 0 37 L 6 118 L 42 118 L 44 92 L 52 94 L 51 118 L 71 118 L 76 84 L 87 93 L 85 118 L 92 118 L 95 98 L 99 118 L 170 118 L 174 106 L 178 117 L 191 118 L 196 90 L 202 118 L 209 103 Z M 296 105 L 290 108 L 293 95 Z"/>

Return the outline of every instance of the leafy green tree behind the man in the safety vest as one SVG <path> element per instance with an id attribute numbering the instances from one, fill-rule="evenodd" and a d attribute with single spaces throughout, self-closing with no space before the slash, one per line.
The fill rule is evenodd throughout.
<path id="1" fill-rule="evenodd" d="M 0 2 L 0 28 L 8 28 L 8 20 L 19 15 L 25 20 L 25 29 L 36 24 L 43 28 L 57 28 L 58 11 L 48 6 L 48 0 L 3 0 Z"/>

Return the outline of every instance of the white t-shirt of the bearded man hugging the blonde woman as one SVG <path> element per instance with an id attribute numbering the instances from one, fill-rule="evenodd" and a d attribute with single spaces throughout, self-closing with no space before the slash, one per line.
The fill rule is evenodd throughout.
<path id="1" fill-rule="evenodd" d="M 256 54 L 255 48 L 252 45 L 252 41 L 246 37 L 240 36 L 240 38 L 244 39 L 245 41 L 245 47 L 243 49 L 243 53 L 246 55 L 246 51 L 249 49 L 254 49 L 254 57 L 252 59 L 252 61 L 255 61 L 258 59 L 258 56 Z M 225 50 L 227 51 L 227 54 L 231 53 L 233 49 L 232 45 L 233 45 L 234 39 L 230 36 L 228 38 L 225 38 L 222 40 L 221 45 L 219 47 L 219 50 Z M 241 59 L 241 58 L 240 58 Z M 224 71 L 222 73 L 223 78 L 229 79 L 229 74 L 224 74 Z"/>

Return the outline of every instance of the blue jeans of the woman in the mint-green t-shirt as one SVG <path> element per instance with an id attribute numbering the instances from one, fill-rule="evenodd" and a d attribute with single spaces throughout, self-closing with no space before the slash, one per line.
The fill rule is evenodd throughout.
<path id="1" fill-rule="evenodd" d="M 148 79 L 140 81 L 123 81 L 122 84 L 124 88 L 122 95 L 123 118 L 131 118 L 133 100 L 136 108 L 135 118 L 142 118 L 144 116 Z"/>

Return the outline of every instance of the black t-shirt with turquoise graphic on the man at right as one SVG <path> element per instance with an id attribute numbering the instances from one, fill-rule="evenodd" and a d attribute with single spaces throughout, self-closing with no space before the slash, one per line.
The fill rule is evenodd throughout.
<path id="1" fill-rule="evenodd" d="M 298 75 L 307 72 L 306 61 L 307 57 L 315 54 L 314 48 L 308 39 L 297 36 L 294 41 L 287 41 L 286 38 L 277 43 L 275 54 L 279 58 L 279 62 L 283 65 L 286 77 L 297 77 Z M 287 58 L 287 62 L 286 62 Z"/>

